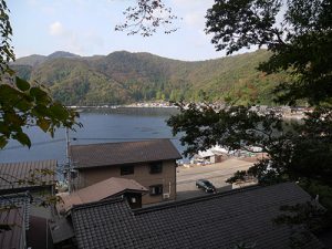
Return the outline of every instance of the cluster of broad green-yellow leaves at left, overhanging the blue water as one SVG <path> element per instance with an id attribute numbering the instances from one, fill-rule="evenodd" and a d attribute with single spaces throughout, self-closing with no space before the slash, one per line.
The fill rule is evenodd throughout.
<path id="1" fill-rule="evenodd" d="M 52 136 L 61 125 L 72 127 L 77 114 L 54 102 L 42 86 L 32 86 L 27 81 L 15 77 L 15 85 L 0 84 L 0 148 L 9 139 L 17 139 L 22 145 L 31 146 L 23 127 L 39 126 Z"/>

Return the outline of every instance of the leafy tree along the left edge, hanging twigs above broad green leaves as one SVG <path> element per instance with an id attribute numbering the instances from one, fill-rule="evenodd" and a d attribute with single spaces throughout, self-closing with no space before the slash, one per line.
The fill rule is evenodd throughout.
<path id="1" fill-rule="evenodd" d="M 39 126 L 52 136 L 60 126 L 73 128 L 77 113 L 52 100 L 48 90 L 38 83 L 29 83 L 18 76 L 10 68 L 14 61 L 13 48 L 10 45 L 12 28 L 6 1 L 0 1 L 0 148 L 9 139 L 31 146 L 24 127 Z"/>

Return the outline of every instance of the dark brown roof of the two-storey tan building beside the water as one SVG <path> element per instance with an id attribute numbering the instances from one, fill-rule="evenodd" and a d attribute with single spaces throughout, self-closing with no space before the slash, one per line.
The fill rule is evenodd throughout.
<path id="1" fill-rule="evenodd" d="M 70 153 L 76 168 L 181 158 L 169 139 L 72 145 Z"/>

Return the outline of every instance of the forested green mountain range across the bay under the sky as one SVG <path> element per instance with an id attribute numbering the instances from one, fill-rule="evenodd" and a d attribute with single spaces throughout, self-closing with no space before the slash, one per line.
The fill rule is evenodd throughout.
<path id="1" fill-rule="evenodd" d="M 49 86 L 56 100 L 69 105 L 225 97 L 270 104 L 270 91 L 284 75 L 267 76 L 256 70 L 268 58 L 264 50 L 198 62 L 125 51 L 86 58 L 55 52 L 18 59 L 13 68 L 25 80 Z"/>

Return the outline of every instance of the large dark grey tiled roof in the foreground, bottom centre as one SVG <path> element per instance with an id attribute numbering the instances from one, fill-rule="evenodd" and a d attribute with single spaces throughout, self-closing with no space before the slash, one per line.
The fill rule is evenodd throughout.
<path id="1" fill-rule="evenodd" d="M 274 225 L 279 207 L 310 200 L 292 183 L 249 187 L 225 194 L 131 211 L 124 200 L 77 206 L 72 211 L 80 249 L 87 248 L 289 248 L 291 230 Z M 304 248 L 322 248 L 312 236 Z"/>

